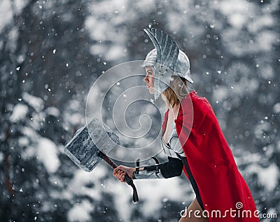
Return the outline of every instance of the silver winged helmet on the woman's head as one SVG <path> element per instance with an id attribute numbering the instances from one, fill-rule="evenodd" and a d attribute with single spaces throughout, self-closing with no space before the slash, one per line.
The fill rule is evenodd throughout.
<path id="1" fill-rule="evenodd" d="M 190 61 L 188 56 L 179 50 L 176 42 L 167 33 L 160 29 L 144 29 L 153 42 L 155 48 L 151 50 L 143 66 L 151 66 L 154 76 L 154 97 L 158 99 L 162 92 L 169 88 L 172 76 L 186 78 L 190 83 Z"/>

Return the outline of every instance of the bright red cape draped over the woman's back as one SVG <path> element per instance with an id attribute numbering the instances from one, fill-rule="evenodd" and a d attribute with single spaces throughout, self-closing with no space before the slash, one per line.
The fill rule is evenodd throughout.
<path id="1" fill-rule="evenodd" d="M 167 115 L 168 111 L 162 130 Z M 251 192 L 207 99 L 190 92 L 181 102 L 175 123 L 210 222 L 259 221 Z M 188 176 L 185 167 L 184 172 Z"/>

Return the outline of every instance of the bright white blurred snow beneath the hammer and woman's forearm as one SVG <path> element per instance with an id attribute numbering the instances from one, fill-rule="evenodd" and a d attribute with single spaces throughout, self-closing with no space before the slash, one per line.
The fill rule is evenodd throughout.
<path id="1" fill-rule="evenodd" d="M 73 196 L 83 195 L 99 201 L 102 200 L 104 191 L 109 192 L 114 196 L 114 204 L 118 214 L 120 214 L 120 218 L 123 221 L 130 221 L 130 212 L 134 207 L 138 207 L 132 204 L 132 188 L 126 183 L 120 183 L 117 179 L 106 180 L 106 183 L 102 184 L 102 178 L 106 174 L 113 174 L 113 170 L 108 171 L 108 168 L 102 162 L 92 172 L 77 169 L 73 179 L 69 181 L 66 190 L 61 196 L 71 200 Z M 92 188 L 87 186 L 90 183 L 94 183 Z M 186 183 L 183 184 L 183 189 L 181 183 Z M 186 195 L 186 191 L 191 189 L 190 183 L 182 181 L 180 178 L 137 180 L 134 181 L 134 184 L 137 186 L 139 199 L 144 202 L 141 205 L 141 211 L 144 211 L 146 215 L 154 214 L 163 200 L 188 202 L 188 200 L 191 201 L 194 198 L 194 196 Z M 93 206 L 93 204 L 88 204 L 87 202 L 71 208 L 68 213 L 69 221 L 87 221 L 89 219 L 87 215 L 93 209 L 90 206 Z"/>

